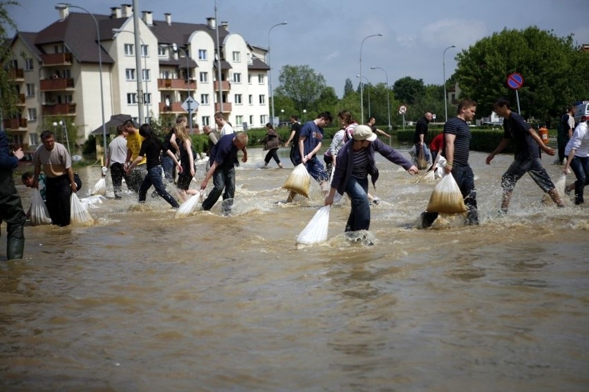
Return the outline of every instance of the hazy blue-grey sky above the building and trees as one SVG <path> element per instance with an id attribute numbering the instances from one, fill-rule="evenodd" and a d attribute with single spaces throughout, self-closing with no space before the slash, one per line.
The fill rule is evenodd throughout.
<path id="1" fill-rule="evenodd" d="M 59 1 L 19 0 L 9 7 L 19 30 L 37 32 L 58 19 Z M 94 14 L 110 14 L 111 7 L 133 0 L 72 0 Z M 206 23 L 214 17 L 214 0 L 138 0 L 140 11 L 153 12 L 162 21 Z M 272 85 L 279 86 L 282 66 L 308 65 L 324 75 L 328 86 L 342 96 L 346 78 L 357 86 L 362 45 L 362 76 L 373 84 L 389 84 L 402 77 L 442 84 L 442 53 L 446 77 L 456 67 L 454 57 L 478 39 L 504 28 L 522 30 L 538 26 L 564 37 L 571 33 L 577 44 L 589 43 L 589 0 L 216 0 L 219 21 L 248 43 L 268 48 L 270 35 Z M 72 10 L 80 12 L 80 10 Z"/>

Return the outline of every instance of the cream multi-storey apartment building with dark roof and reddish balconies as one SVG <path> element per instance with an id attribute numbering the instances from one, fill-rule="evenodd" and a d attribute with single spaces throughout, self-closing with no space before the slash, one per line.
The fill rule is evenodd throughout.
<path id="1" fill-rule="evenodd" d="M 34 149 L 41 131 L 53 129 L 53 124 L 76 129 L 77 142 L 82 143 L 102 128 L 103 105 L 105 121 L 118 114 L 138 119 L 140 104 L 149 121 L 162 114 L 186 115 L 182 104 L 187 97 L 198 103 L 192 120 L 200 129 L 214 125 L 217 111 L 237 130 L 269 121 L 266 50 L 230 33 L 227 22 L 216 26 L 214 18 L 207 18 L 203 24 L 178 23 L 171 13 L 156 21 L 152 12 L 144 11 L 140 48 L 135 48 L 131 5 L 102 15 L 71 10 L 59 9 L 59 20 L 39 32 L 18 32 L 10 43 L 19 114 L 3 119 L 3 126 L 15 143 Z M 114 134 L 115 129 L 107 132 Z"/>

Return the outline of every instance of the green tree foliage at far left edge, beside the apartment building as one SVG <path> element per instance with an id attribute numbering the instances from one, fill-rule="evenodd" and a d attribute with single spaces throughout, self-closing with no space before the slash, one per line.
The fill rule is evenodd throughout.
<path id="1" fill-rule="evenodd" d="M 18 90 L 15 88 L 15 66 L 12 60 L 10 48 L 10 39 L 8 39 L 8 30 L 12 28 L 17 30 L 15 22 L 8 14 L 8 6 L 18 6 L 19 3 L 13 0 L 0 1 L 0 114 L 2 117 L 15 115 L 17 110 Z"/>

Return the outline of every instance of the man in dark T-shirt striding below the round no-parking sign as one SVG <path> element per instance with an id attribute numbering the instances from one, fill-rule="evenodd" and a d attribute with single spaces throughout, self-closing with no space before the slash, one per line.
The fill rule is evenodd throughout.
<path id="1" fill-rule="evenodd" d="M 554 149 L 543 143 L 536 130 L 527 124 L 521 115 L 512 112 L 507 99 L 496 99 L 493 104 L 493 110 L 498 116 L 503 117 L 504 132 L 503 139 L 487 157 L 487 165 L 491 164 L 495 155 L 503 151 L 507 144 L 509 144 L 509 141 L 512 140 L 515 144 L 515 159 L 503 177 L 501 177 L 501 188 L 503 188 L 501 213 L 507 213 L 509 199 L 512 197 L 515 184 L 525 173 L 528 173 L 534 182 L 545 193 L 550 195 L 550 199 L 552 199 L 554 204 L 563 207 L 564 205 L 557 188 L 554 187 L 550 176 L 542 166 L 538 146 L 550 156 L 554 155 Z"/>

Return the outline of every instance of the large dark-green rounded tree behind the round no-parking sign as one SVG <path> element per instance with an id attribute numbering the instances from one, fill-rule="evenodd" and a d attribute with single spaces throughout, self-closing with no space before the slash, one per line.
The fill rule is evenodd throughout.
<path id="1" fill-rule="evenodd" d="M 581 66 L 584 74 L 573 68 L 580 58 L 572 36 L 557 37 L 536 26 L 505 29 L 460 52 L 455 77 L 461 96 L 477 101 L 477 111 L 485 114 L 498 97 L 511 99 L 515 107 L 516 92 L 507 86 L 507 77 L 518 72 L 524 79 L 518 90 L 522 115 L 546 119 L 558 116 L 575 97 L 586 96 L 587 82 L 584 90 L 583 84 L 571 83 L 572 75 L 588 75 L 586 65 Z"/>

